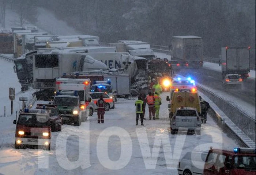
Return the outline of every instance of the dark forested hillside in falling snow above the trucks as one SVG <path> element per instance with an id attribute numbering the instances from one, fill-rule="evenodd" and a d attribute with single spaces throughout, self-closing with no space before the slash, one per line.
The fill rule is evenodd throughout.
<path id="1" fill-rule="evenodd" d="M 211 57 L 219 57 L 224 46 L 255 47 L 254 0 L 40 0 L 32 5 L 50 9 L 102 42 L 136 39 L 169 46 L 172 36 L 196 35 Z"/>

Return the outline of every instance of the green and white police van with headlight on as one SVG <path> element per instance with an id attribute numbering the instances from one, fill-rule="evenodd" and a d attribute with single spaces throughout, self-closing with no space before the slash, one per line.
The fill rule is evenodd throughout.
<path id="1" fill-rule="evenodd" d="M 85 109 L 80 108 L 77 91 L 61 90 L 57 92 L 53 104 L 57 105 L 63 124 L 74 123 L 75 126 L 80 126 L 82 120 L 86 120 Z"/>

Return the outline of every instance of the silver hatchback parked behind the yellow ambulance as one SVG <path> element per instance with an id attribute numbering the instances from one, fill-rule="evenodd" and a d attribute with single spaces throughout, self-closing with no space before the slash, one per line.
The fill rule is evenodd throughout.
<path id="1" fill-rule="evenodd" d="M 170 119 L 171 134 L 175 134 L 178 130 L 184 130 L 201 135 L 201 124 L 201 118 L 196 108 L 177 108 L 173 117 Z"/>

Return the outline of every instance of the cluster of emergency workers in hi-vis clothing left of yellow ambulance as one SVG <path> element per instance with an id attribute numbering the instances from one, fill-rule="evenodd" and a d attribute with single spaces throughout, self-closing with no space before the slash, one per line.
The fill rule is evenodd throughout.
<path id="1" fill-rule="evenodd" d="M 152 82 L 150 83 L 150 90 L 148 95 L 146 94 L 139 94 L 138 100 L 135 101 L 136 106 L 136 125 L 138 125 L 139 117 L 141 121 L 141 125 L 144 126 L 143 120 L 145 118 L 145 109 L 146 104 L 148 105 L 148 113 L 149 113 L 149 120 L 158 120 L 159 119 L 159 109 L 160 105 L 162 104 L 162 99 L 160 94 L 162 93 L 162 87 L 159 83 L 153 78 Z"/>

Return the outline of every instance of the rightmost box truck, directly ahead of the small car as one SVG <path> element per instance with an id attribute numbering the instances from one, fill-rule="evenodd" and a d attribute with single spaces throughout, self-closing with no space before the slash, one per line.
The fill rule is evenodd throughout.
<path id="1" fill-rule="evenodd" d="M 249 77 L 250 47 L 221 48 L 222 79 L 226 74 L 240 74 L 242 79 Z"/>

